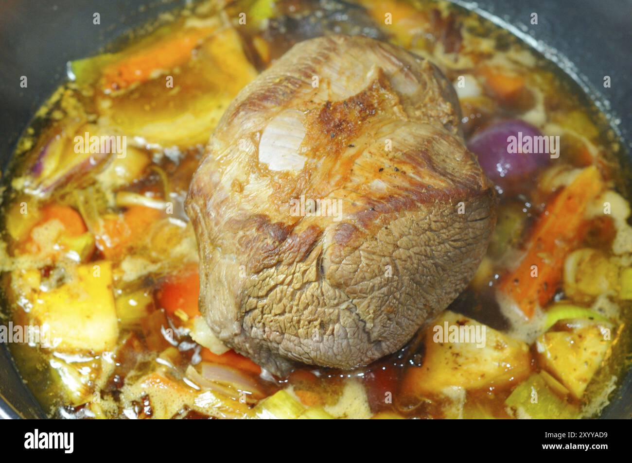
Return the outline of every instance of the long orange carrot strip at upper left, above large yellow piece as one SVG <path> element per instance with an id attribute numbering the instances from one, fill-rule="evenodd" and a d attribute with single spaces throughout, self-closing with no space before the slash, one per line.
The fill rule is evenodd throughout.
<path id="1" fill-rule="evenodd" d="M 104 90 L 121 90 L 133 83 L 143 83 L 155 77 L 157 71 L 169 71 L 186 63 L 191 52 L 207 37 L 212 28 L 190 28 L 157 40 L 145 49 L 124 57 L 104 68 Z"/>

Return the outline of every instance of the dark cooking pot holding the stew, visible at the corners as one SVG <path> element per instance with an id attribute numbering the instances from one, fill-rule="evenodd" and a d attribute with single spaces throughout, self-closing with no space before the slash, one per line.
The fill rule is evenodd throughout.
<path id="1" fill-rule="evenodd" d="M 578 91 L 589 95 L 609 116 L 612 128 L 627 148 L 627 159 L 622 161 L 632 164 L 632 2 L 453 1 L 509 29 L 570 75 L 578 84 Z M 66 79 L 68 61 L 107 49 L 113 39 L 125 37 L 159 13 L 184 3 L 186 0 L 4 0 L 0 15 L 3 172 L 35 111 Z M 97 12 L 100 25 L 92 21 Z M 537 13 L 537 25 L 531 24 L 533 13 Z M 21 76 L 27 76 L 26 88 L 20 87 Z M 610 87 L 604 87 L 605 76 L 610 77 Z M 632 189 L 628 188 L 628 193 Z M 601 418 L 630 418 L 631 396 L 632 371 L 628 368 Z M 0 346 L 0 418 L 45 417 L 22 382 L 7 346 Z"/>

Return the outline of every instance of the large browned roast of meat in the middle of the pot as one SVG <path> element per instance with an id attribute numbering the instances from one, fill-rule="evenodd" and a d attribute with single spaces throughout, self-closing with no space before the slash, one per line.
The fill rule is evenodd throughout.
<path id="1" fill-rule="evenodd" d="M 246 86 L 186 201 L 218 337 L 277 375 L 349 369 L 444 310 L 495 223 L 459 123 L 431 63 L 367 37 L 301 42 Z"/>

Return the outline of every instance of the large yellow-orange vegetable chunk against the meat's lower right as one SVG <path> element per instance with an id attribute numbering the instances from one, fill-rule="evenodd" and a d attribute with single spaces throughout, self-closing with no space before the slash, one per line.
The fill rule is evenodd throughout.
<path id="1" fill-rule="evenodd" d="M 484 346 L 477 347 L 479 344 L 473 336 L 470 342 L 462 342 L 463 339 L 461 342 L 459 339 L 444 342 L 437 336 L 447 336 L 446 327 L 470 333 L 478 327 L 481 334 L 484 328 Z M 524 342 L 506 337 L 466 316 L 446 311 L 427 328 L 423 364 L 406 370 L 402 389 L 404 394 L 420 397 L 440 395 L 452 386 L 466 390 L 511 387 L 529 375 L 530 360 Z"/>

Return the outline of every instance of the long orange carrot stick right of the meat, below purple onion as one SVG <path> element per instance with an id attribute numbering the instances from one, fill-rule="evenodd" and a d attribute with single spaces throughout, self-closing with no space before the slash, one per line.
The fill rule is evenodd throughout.
<path id="1" fill-rule="evenodd" d="M 564 259 L 581 241 L 586 206 L 599 195 L 602 186 L 596 167 L 580 172 L 549 203 L 533 230 L 525 257 L 502 280 L 499 290 L 513 299 L 528 318 L 538 304 L 544 307 L 557 291 Z"/>

